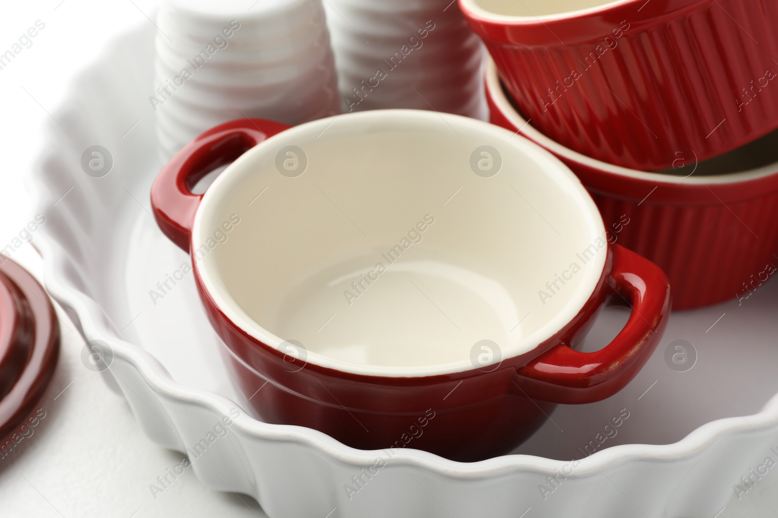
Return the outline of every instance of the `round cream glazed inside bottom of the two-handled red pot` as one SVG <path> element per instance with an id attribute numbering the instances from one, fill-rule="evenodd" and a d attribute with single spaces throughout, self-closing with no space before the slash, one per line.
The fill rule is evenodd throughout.
<path id="1" fill-rule="evenodd" d="M 370 259 L 364 263 L 373 266 Z M 303 280 L 279 304 L 279 335 L 338 360 L 398 367 L 461 360 L 481 339 L 510 339 L 518 308 L 495 280 L 450 262 L 416 261 L 412 252 L 394 264 L 376 260 L 387 270 L 373 273 L 377 280 L 370 284 L 363 280 L 365 289 L 351 304 L 343 292 L 356 294 L 352 282 L 371 268 L 338 276 L 348 267 L 342 262 Z"/>

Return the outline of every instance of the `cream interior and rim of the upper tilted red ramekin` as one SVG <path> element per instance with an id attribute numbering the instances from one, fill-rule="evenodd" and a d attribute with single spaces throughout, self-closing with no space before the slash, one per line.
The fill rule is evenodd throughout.
<path id="1" fill-rule="evenodd" d="M 494 22 L 541 23 L 605 11 L 636 0 L 460 0 L 468 14 Z"/>

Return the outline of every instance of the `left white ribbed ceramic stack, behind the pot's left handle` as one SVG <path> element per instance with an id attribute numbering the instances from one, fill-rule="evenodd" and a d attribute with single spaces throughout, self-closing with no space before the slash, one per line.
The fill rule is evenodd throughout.
<path id="1" fill-rule="evenodd" d="M 321 0 L 164 0 L 149 104 L 159 152 L 247 116 L 299 124 L 340 111 Z"/>

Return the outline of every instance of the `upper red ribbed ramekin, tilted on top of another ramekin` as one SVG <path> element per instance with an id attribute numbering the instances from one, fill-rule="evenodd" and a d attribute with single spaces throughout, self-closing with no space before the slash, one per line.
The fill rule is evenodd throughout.
<path id="1" fill-rule="evenodd" d="M 778 2 L 619 0 L 545 14 L 526 0 L 510 16 L 491 2 L 460 6 L 510 95 L 583 155 L 658 171 L 678 151 L 704 160 L 778 127 Z"/>

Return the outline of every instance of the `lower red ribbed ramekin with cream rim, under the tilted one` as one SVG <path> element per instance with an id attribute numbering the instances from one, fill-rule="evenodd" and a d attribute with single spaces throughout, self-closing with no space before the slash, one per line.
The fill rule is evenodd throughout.
<path id="1" fill-rule="evenodd" d="M 778 85 L 776 85 L 778 86 Z M 495 64 L 486 65 L 491 120 L 551 151 L 581 179 L 600 209 L 609 241 L 668 274 L 673 309 L 747 297 L 778 268 L 778 163 L 717 176 L 640 172 L 562 146 L 513 107 Z"/>

